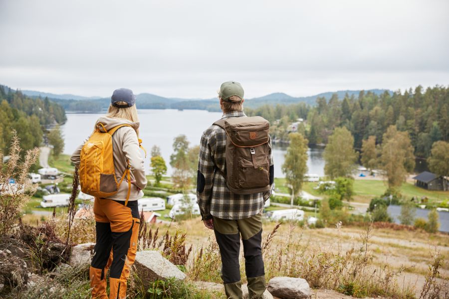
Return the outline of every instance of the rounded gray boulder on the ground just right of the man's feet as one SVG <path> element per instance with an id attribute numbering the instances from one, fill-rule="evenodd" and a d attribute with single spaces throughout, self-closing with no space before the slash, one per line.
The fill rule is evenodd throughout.
<path id="1" fill-rule="evenodd" d="M 268 282 L 267 290 L 282 299 L 308 299 L 312 296 L 309 284 L 302 278 L 274 277 Z"/>

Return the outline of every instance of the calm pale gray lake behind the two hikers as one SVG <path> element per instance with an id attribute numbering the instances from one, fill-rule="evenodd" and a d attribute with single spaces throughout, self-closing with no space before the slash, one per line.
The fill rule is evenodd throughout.
<path id="1" fill-rule="evenodd" d="M 67 122 L 61 127 L 64 134 L 64 153 L 71 154 L 85 138 L 89 137 L 95 121 L 103 114 L 67 113 Z M 199 145 L 201 135 L 215 121 L 222 117 L 219 112 L 204 110 L 155 110 L 139 109 L 140 138 L 142 145 L 148 151 L 145 161 L 147 173 L 150 173 L 150 150 L 154 145 L 161 148 L 162 156 L 167 162 L 168 174 L 172 173 L 170 155 L 173 152 L 173 140 L 184 134 L 191 146 Z M 273 147 L 274 175 L 283 177 L 281 165 L 284 162 L 286 149 Z M 308 173 L 324 175 L 323 149 L 309 149 L 307 166 Z"/>

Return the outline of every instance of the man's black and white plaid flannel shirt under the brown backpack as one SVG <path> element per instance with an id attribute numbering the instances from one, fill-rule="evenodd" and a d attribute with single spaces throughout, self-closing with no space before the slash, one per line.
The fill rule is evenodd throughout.
<path id="1" fill-rule="evenodd" d="M 245 117 L 242 111 L 225 113 L 222 119 L 231 117 Z M 273 165 L 271 154 L 271 140 L 269 143 L 270 165 Z M 200 158 L 198 162 L 198 176 L 204 175 L 204 189 L 197 188 L 198 204 L 203 220 L 212 216 L 222 219 L 244 219 L 260 213 L 265 201 L 270 197 L 270 190 L 264 193 L 235 194 L 226 186 L 226 133 L 219 126 L 212 125 L 203 132 L 200 143 Z M 220 171 L 216 171 L 216 168 Z M 201 174 L 200 174 L 201 172 Z"/>

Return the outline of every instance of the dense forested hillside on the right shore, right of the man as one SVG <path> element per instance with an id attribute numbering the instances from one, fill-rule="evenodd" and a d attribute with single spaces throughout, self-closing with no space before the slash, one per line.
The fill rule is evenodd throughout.
<path id="1" fill-rule="evenodd" d="M 262 116 L 272 124 L 273 140 L 287 140 L 290 125 L 302 118 L 298 126 L 310 144 L 326 144 L 337 127 L 346 127 L 354 137 L 354 147 L 360 149 L 362 141 L 376 137 L 382 143 L 383 134 L 389 126 L 406 131 L 415 147 L 415 154 L 427 157 L 433 143 L 449 141 L 449 87 L 436 86 L 424 90 L 401 92 L 360 92 L 355 95 L 330 100 L 316 99 L 316 105 L 304 103 L 292 105 L 264 105 L 245 109 L 251 116 Z"/>

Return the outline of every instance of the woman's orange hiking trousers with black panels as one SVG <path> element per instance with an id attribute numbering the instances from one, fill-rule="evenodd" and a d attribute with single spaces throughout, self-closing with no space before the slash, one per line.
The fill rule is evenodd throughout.
<path id="1" fill-rule="evenodd" d="M 136 201 L 95 198 L 96 244 L 90 264 L 93 299 L 107 299 L 106 274 L 109 269 L 109 299 L 126 298 L 130 267 L 134 264 L 139 235 L 139 209 Z"/>

